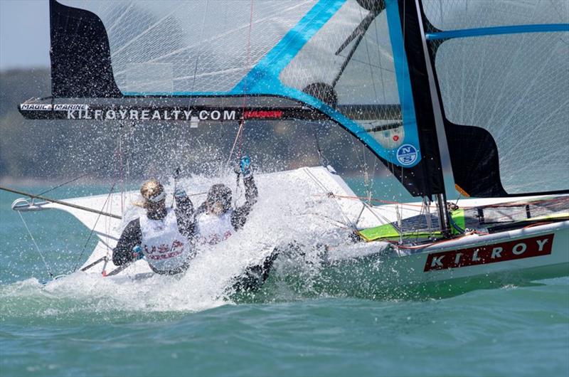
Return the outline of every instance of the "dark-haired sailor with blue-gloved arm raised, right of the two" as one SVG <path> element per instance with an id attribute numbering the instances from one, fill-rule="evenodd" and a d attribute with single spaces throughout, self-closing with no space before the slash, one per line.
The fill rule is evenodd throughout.
<path id="1" fill-rule="evenodd" d="M 214 184 L 209 189 L 206 201 L 196 211 L 196 238 L 199 243 L 215 245 L 245 225 L 258 194 L 250 166 L 249 156 L 243 156 L 237 170 L 238 175 L 243 176 L 245 186 L 243 206 L 232 208 L 232 193 L 228 186 Z"/>

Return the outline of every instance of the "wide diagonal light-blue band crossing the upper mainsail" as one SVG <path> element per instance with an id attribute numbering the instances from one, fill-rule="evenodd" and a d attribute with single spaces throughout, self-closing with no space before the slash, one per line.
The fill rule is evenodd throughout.
<path id="1" fill-rule="evenodd" d="M 280 72 L 290 63 L 294 56 L 307 44 L 326 22 L 340 9 L 346 0 L 320 0 L 285 34 L 271 51 L 262 58 L 243 78 L 232 94 L 257 92 L 271 89 L 280 84 Z"/>

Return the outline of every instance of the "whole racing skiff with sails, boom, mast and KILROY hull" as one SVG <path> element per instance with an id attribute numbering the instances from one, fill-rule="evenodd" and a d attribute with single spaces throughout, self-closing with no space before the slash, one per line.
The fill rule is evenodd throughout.
<path id="1" fill-rule="evenodd" d="M 302 182 L 300 193 L 335 206 L 332 221 L 353 235 L 323 250 L 322 273 L 339 285 L 361 275 L 378 290 L 448 290 L 569 275 L 563 1 L 50 0 L 50 36 L 52 95 L 19 105 L 26 119 L 313 129 L 321 166 L 260 174 L 260 192 Z M 326 151 L 331 135 L 418 200 L 358 196 Z M 116 268 L 125 195 L 135 193 L 13 208 L 73 214 L 99 237 L 82 270 L 100 274 Z M 148 272 L 140 261 L 117 275 L 133 271 Z"/>

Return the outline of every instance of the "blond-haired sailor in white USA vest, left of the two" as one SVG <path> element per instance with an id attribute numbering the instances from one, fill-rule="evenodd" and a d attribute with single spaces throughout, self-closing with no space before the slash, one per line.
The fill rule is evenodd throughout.
<path id="1" fill-rule="evenodd" d="M 166 208 L 166 192 L 151 179 L 140 188 L 146 214 L 131 221 L 112 250 L 112 262 L 124 265 L 146 257 L 156 273 L 184 272 L 193 256 L 190 239 L 194 231 L 193 204 L 184 190 L 176 190 L 176 208 Z"/>

